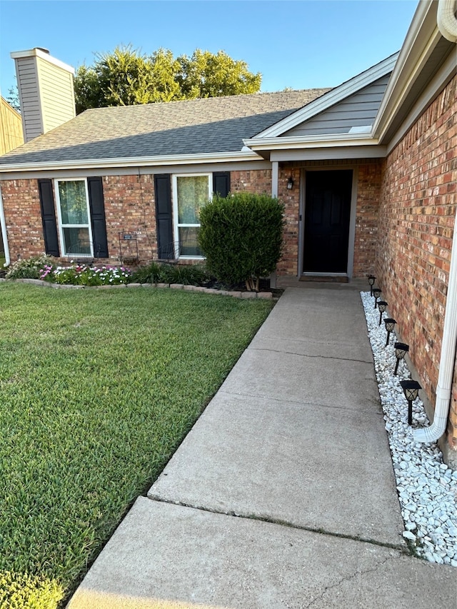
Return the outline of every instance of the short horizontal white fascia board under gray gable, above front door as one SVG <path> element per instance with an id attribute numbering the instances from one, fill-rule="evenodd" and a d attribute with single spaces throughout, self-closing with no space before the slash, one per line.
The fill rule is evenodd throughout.
<path id="1" fill-rule="evenodd" d="M 252 150 L 283 150 L 298 148 L 329 148 L 331 146 L 376 146 L 371 134 L 324 134 L 321 136 L 269 137 L 243 140 Z"/>

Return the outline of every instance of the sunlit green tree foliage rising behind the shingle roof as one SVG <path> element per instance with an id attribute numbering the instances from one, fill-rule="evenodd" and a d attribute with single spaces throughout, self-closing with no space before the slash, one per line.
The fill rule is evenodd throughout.
<path id="1" fill-rule="evenodd" d="M 175 58 L 167 49 L 148 56 L 128 45 L 95 57 L 93 66 L 76 70 L 76 114 L 106 106 L 256 93 L 261 86 L 261 74 L 252 74 L 246 62 L 224 51 L 196 49 L 191 57 Z"/>

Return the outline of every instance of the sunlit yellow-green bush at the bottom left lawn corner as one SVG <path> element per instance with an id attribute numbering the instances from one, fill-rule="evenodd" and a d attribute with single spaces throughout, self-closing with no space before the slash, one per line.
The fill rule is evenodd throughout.
<path id="1" fill-rule="evenodd" d="M 1 609 L 54 609 L 62 598 L 61 587 L 44 576 L 0 572 Z"/>

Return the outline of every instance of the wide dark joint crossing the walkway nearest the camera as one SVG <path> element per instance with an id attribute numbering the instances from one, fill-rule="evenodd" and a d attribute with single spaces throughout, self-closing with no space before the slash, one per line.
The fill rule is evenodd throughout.
<path id="1" fill-rule="evenodd" d="M 390 548 L 391 550 L 395 550 L 396 552 L 398 552 L 402 555 L 411 556 L 411 553 L 409 552 L 406 545 L 383 543 L 382 541 L 376 541 L 375 539 L 363 538 L 358 535 L 345 535 L 344 533 L 334 533 L 333 531 L 325 530 L 323 528 L 297 525 L 295 523 L 288 522 L 288 520 L 281 520 L 280 518 L 268 518 L 268 516 L 261 516 L 261 515 L 256 515 L 256 514 L 238 514 L 233 510 L 214 510 L 214 509 L 210 509 L 210 508 L 205 508 L 203 505 L 192 505 L 191 503 L 185 503 L 184 501 L 172 501 L 172 500 L 164 499 L 164 498 L 154 496 L 154 495 L 152 495 L 152 496 L 148 495 L 147 498 L 150 499 L 151 501 L 157 501 L 160 503 L 169 503 L 169 505 L 180 505 L 181 508 L 199 510 L 201 512 L 207 512 L 210 514 L 219 514 L 221 516 L 231 516 L 233 518 L 241 518 L 242 520 L 255 520 L 256 522 L 267 523 L 267 524 L 282 526 L 282 527 L 286 527 L 286 528 L 293 528 L 296 530 L 306 530 L 308 533 L 317 533 L 318 535 L 327 535 L 328 537 L 349 539 L 352 541 L 358 541 L 360 543 L 370 543 L 371 545 L 378 545 L 381 548 Z M 361 573 L 363 573 L 363 571 Z M 358 573 L 355 573 L 354 575 L 358 575 Z M 353 577 L 353 575 L 351 575 L 351 577 Z"/>

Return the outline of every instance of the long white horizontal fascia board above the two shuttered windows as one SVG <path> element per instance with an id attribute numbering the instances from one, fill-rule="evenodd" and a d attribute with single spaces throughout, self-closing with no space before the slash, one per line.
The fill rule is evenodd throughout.
<path id="1" fill-rule="evenodd" d="M 164 156 L 134 156 L 129 158 L 86 158 L 78 161 L 44 161 L 43 163 L 0 164 L 0 173 L 13 171 L 45 171 L 46 169 L 99 169 L 107 167 L 144 167 L 161 165 L 194 165 L 196 163 L 224 163 L 226 161 L 258 161 L 253 151 L 207 154 L 168 154 Z"/>

